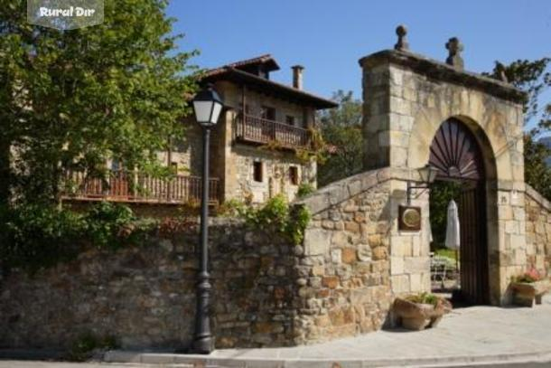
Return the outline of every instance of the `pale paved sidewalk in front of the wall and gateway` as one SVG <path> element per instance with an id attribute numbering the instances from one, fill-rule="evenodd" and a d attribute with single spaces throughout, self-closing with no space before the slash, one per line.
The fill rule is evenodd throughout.
<path id="1" fill-rule="evenodd" d="M 551 362 L 551 297 L 534 308 L 455 309 L 437 328 L 420 332 L 378 331 L 324 344 L 224 349 L 209 356 L 114 351 L 105 361 L 263 368 Z"/>

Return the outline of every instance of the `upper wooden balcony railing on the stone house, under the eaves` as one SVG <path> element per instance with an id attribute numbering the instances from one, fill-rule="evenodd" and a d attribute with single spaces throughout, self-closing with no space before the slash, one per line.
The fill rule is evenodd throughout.
<path id="1" fill-rule="evenodd" d="M 312 146 L 312 133 L 308 129 L 251 115 L 238 117 L 236 138 L 257 144 L 274 143 L 284 148 L 309 149 Z"/>

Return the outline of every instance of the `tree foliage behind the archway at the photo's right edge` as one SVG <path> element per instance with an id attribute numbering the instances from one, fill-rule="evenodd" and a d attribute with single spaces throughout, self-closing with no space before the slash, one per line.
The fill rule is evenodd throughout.
<path id="1" fill-rule="evenodd" d="M 551 101 L 542 101 L 541 94 L 551 87 L 551 58 L 536 61 L 518 60 L 509 65 L 496 61 L 490 75 L 496 79 L 503 76 L 515 87 L 527 92 L 524 113 L 525 123 L 536 123 L 524 134 L 525 180 L 539 193 L 551 199 L 551 167 L 546 159 L 551 151 L 537 141 L 538 137 L 551 132 Z"/>

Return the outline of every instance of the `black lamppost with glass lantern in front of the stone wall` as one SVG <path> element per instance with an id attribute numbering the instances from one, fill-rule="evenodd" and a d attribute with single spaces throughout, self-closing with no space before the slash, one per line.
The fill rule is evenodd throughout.
<path id="1" fill-rule="evenodd" d="M 201 195 L 200 269 L 197 280 L 197 310 L 195 334 L 191 350 L 197 354 L 210 354 L 214 348 L 210 335 L 210 275 L 209 275 L 209 140 L 210 128 L 218 122 L 223 103 L 218 93 L 208 85 L 193 99 L 195 119 L 203 129 L 203 170 Z"/>

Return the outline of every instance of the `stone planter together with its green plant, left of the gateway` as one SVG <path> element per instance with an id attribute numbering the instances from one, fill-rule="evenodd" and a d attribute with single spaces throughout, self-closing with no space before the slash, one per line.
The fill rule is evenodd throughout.
<path id="1" fill-rule="evenodd" d="M 452 304 L 449 301 L 426 292 L 397 297 L 393 306 L 395 316 L 401 325 L 416 331 L 437 326 L 444 314 L 450 310 Z"/>

